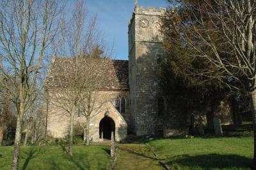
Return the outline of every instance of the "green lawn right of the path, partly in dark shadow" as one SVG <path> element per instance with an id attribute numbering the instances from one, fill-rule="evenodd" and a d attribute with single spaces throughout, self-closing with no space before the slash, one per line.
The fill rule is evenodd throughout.
<path id="1" fill-rule="evenodd" d="M 156 139 L 148 144 L 171 169 L 250 169 L 253 137 Z"/>

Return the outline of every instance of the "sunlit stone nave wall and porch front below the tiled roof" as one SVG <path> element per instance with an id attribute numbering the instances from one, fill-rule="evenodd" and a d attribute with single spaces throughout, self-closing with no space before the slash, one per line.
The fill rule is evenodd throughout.
<path id="1" fill-rule="evenodd" d="M 61 97 L 60 97 L 60 90 L 59 89 L 48 89 L 49 93 L 49 109 L 47 112 L 47 133 L 55 138 L 63 138 L 68 135 L 68 127 L 69 127 L 69 120 L 70 115 L 68 114 L 65 109 L 60 105 Z M 58 93 L 58 95 L 56 95 Z M 92 121 L 90 122 L 90 130 L 92 130 L 93 141 L 99 141 L 99 125 L 95 123 L 99 123 L 99 119 L 95 118 L 102 118 L 106 110 L 111 110 L 110 114 L 113 117 L 113 121 L 116 124 L 116 139 L 124 139 L 125 134 L 127 134 L 127 123 L 129 121 L 129 92 L 128 91 L 99 91 L 97 93 L 97 99 L 95 108 L 97 112 L 93 113 Z M 125 97 L 126 100 L 126 112 L 120 114 L 116 111 L 115 106 L 113 105 L 114 101 L 118 97 Z M 63 104 L 65 102 L 63 101 Z M 105 107 L 108 104 L 108 107 Z M 111 104 L 111 105 L 110 105 Z M 118 112 L 118 115 L 117 113 Z M 115 114 L 114 114 L 115 113 Z M 113 116 L 115 115 L 115 116 Z M 83 124 L 85 122 L 85 118 L 81 114 L 77 114 L 75 118 L 75 123 Z M 122 130 L 121 130 L 122 127 Z M 119 134 L 122 133 L 122 134 Z M 97 135 L 96 135 L 97 134 Z"/>

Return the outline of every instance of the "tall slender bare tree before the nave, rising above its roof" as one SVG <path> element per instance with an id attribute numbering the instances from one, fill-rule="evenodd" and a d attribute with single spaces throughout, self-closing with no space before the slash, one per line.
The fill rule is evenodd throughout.
<path id="1" fill-rule="evenodd" d="M 76 1 L 72 17 L 62 21 L 61 36 L 56 46 L 56 55 L 60 57 L 55 59 L 51 72 L 51 75 L 58 75 L 54 83 L 59 86 L 51 94 L 53 105 L 69 114 L 68 154 L 72 155 L 74 118 L 80 97 L 86 86 L 90 86 L 88 82 L 93 81 L 90 78 L 97 74 L 91 61 L 104 56 L 104 48 L 97 31 L 96 17 L 88 17 L 83 1 Z M 93 75 L 88 77 L 93 69 Z"/>

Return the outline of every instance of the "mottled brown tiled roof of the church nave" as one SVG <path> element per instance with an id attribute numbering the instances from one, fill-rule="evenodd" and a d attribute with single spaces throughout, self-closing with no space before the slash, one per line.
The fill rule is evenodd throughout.
<path id="1" fill-rule="evenodd" d="M 115 59 L 90 59 L 93 71 L 100 75 L 100 89 L 129 89 L 129 62 Z M 84 64 L 85 65 L 85 64 Z M 65 68 L 61 70 L 60 68 Z M 47 88 L 58 88 L 66 84 L 67 77 L 74 77 L 74 63 L 71 58 L 55 58 L 51 65 L 51 73 Z M 68 73 L 63 73 L 68 72 Z"/>

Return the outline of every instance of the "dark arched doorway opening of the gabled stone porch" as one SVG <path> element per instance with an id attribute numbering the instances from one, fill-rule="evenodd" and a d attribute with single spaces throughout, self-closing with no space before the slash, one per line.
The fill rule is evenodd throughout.
<path id="1" fill-rule="evenodd" d="M 111 140 L 111 132 L 114 132 L 115 139 L 115 122 L 109 118 L 105 117 L 100 121 L 100 139 Z"/>

